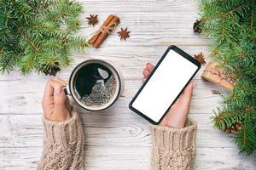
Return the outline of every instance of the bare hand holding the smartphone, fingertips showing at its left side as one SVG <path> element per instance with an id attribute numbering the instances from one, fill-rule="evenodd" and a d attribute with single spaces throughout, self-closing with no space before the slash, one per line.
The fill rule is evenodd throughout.
<path id="1" fill-rule="evenodd" d="M 154 65 L 148 63 L 143 70 L 143 82 L 147 79 Z M 185 126 L 187 116 L 189 114 L 189 105 L 191 102 L 193 88 L 195 82 L 189 82 L 189 85 L 184 89 L 183 94 L 172 105 L 166 116 L 160 122 L 160 126 L 182 128 Z"/>

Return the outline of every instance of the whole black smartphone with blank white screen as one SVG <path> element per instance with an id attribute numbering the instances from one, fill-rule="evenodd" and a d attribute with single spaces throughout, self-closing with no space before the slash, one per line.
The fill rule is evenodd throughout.
<path id="1" fill-rule="evenodd" d="M 170 46 L 131 99 L 129 108 L 148 122 L 159 124 L 200 68 L 196 59 Z"/>

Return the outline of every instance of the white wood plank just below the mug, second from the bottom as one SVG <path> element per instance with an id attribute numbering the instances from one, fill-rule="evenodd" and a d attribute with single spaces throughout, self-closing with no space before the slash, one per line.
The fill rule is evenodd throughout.
<path id="1" fill-rule="evenodd" d="M 198 122 L 197 148 L 236 148 L 231 135 L 213 129 L 209 114 L 190 115 Z M 86 144 L 94 146 L 151 146 L 150 123 L 137 114 L 124 112 L 82 113 Z M 38 147 L 43 127 L 39 115 L 2 115 L 0 148 Z"/>

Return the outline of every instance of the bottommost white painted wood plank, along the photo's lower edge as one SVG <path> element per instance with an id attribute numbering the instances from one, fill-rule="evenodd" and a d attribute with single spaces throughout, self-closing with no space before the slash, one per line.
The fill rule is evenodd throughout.
<path id="1" fill-rule="evenodd" d="M 0 148 L 0 169 L 35 169 L 41 156 L 41 147 Z M 87 146 L 84 168 L 86 170 L 148 170 L 150 147 Z M 200 148 L 196 150 L 195 169 L 197 170 L 254 170 L 253 158 L 239 156 L 234 148 Z M 236 160 L 236 161 L 234 161 Z"/>

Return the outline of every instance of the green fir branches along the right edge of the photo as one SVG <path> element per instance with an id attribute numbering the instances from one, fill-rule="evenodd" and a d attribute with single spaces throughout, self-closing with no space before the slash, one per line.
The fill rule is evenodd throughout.
<path id="1" fill-rule="evenodd" d="M 221 130 L 241 122 L 235 143 L 241 153 L 256 155 L 256 2 L 200 0 L 202 32 L 214 40 L 209 48 L 236 85 L 222 94 L 222 105 L 212 117 Z"/>

